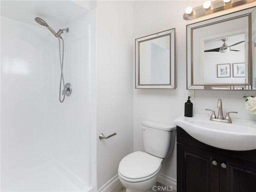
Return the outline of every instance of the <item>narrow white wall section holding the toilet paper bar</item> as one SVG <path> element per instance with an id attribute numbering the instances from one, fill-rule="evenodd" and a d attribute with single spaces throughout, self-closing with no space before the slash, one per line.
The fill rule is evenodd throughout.
<path id="1" fill-rule="evenodd" d="M 118 173 L 133 152 L 133 2 L 97 3 L 97 140 L 98 189 Z"/>

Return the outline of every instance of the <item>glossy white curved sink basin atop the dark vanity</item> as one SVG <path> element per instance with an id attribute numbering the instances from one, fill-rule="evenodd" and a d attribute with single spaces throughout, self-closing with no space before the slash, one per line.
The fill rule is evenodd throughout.
<path id="1" fill-rule="evenodd" d="M 246 151 L 256 149 L 256 121 L 232 118 L 232 124 L 210 121 L 210 116 L 180 116 L 174 124 L 196 140 L 221 149 Z"/>

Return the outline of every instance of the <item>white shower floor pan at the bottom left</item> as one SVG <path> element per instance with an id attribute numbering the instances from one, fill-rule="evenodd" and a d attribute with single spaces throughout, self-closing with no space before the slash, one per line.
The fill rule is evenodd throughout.
<path id="1" fill-rule="evenodd" d="M 1 191 L 12 192 L 88 192 L 91 188 L 57 161 L 33 171 L 2 180 Z"/>

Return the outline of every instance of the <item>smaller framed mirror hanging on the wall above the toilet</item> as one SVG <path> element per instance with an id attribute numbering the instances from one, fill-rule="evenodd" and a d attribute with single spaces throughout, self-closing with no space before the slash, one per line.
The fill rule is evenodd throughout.
<path id="1" fill-rule="evenodd" d="M 135 88 L 175 89 L 175 28 L 137 38 Z"/>

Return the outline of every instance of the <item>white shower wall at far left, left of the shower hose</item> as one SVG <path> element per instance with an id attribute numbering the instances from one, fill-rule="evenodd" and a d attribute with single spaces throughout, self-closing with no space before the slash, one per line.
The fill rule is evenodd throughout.
<path id="1" fill-rule="evenodd" d="M 43 91 L 51 84 L 46 71 L 54 62 L 42 60 L 54 44 L 44 30 L 1 17 L 1 47 L 1 190 L 16 190 L 12 182 L 20 185 L 24 172 L 37 170 L 54 156 L 46 113 L 52 92 Z"/>

